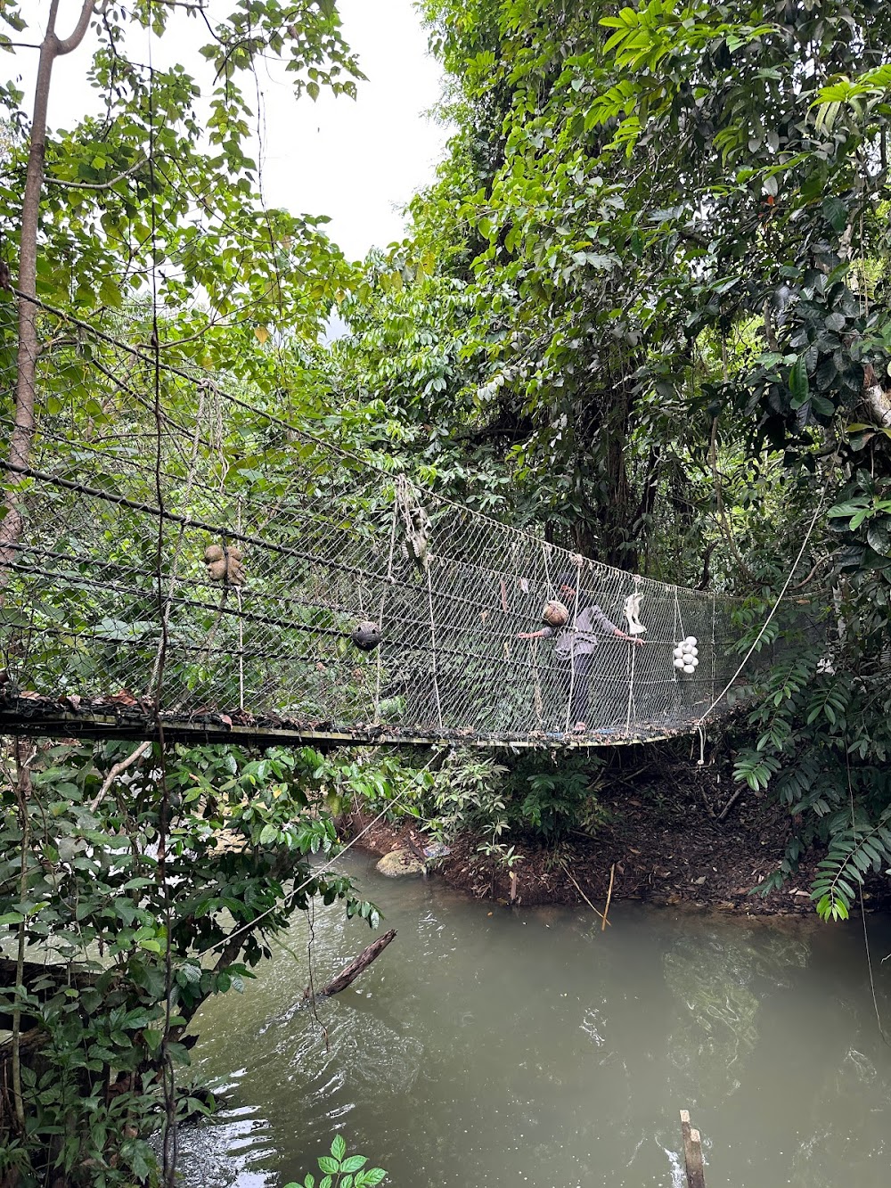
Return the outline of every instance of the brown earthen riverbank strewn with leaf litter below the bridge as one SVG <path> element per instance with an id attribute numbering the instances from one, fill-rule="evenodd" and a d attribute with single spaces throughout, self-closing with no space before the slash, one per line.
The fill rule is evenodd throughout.
<path id="1" fill-rule="evenodd" d="M 735 794 L 735 795 L 734 795 Z M 480 839 L 462 835 L 435 864 L 437 877 L 478 898 L 526 904 L 582 904 L 602 910 L 637 899 L 748 916 L 811 915 L 809 886 L 823 854 L 803 855 L 798 872 L 764 896 L 753 889 L 778 870 L 792 833 L 789 814 L 763 794 L 739 791 L 715 766 L 663 757 L 658 781 L 650 769 L 614 779 L 598 792 L 604 823 L 590 835 L 570 830 L 557 842 L 505 834 L 514 847 L 508 870 L 480 853 Z M 355 836 L 368 817 L 354 815 Z M 359 845 L 378 854 L 417 849 L 429 838 L 417 824 L 375 824 Z M 883 905 L 887 895 L 880 889 Z M 865 897 L 878 906 L 873 889 Z"/>

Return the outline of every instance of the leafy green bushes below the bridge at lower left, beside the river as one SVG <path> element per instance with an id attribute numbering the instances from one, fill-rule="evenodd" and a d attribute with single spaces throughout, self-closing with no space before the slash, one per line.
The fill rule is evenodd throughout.
<path id="1" fill-rule="evenodd" d="M 103 792 L 127 753 L 38 750 L 27 800 L 21 766 L 7 767 L 2 797 L 0 918 L 29 962 L 0 1010 L 21 1011 L 40 1057 L 21 1070 L 29 1127 L 12 1150 L 71 1183 L 84 1159 L 108 1184 L 152 1180 L 158 1070 L 188 1064 L 188 1020 L 208 996 L 244 990 L 295 911 L 318 896 L 377 921 L 349 879 L 309 866 L 336 848 L 315 752 L 177 747 Z M 188 1093 L 176 1101 L 177 1117 L 206 1108 Z"/>

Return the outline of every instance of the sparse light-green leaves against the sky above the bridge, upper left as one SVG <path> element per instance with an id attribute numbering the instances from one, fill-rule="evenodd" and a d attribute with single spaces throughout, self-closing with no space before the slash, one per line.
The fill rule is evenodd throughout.
<path id="1" fill-rule="evenodd" d="M 4 17 L 23 27 L 27 5 Z M 99 116 L 48 138 L 37 293 L 94 324 L 144 295 L 153 272 L 170 323 L 164 353 L 259 379 L 274 329 L 315 343 L 331 304 L 350 283 L 324 217 L 267 209 L 246 154 L 253 113 L 240 84 L 258 62 L 280 59 L 296 95 L 322 88 L 355 96 L 364 76 L 343 43 L 334 2 L 238 2 L 208 29 L 202 58 L 148 69 L 122 52 L 127 29 L 177 34 L 188 6 L 106 6 L 97 48 L 82 69 L 106 99 Z M 191 13 L 194 17 L 194 12 Z M 0 88 L 10 127 L 0 178 L 0 235 L 18 247 L 29 113 Z M 14 263 L 12 267 L 15 272 Z M 169 340 L 176 340 L 173 346 Z"/>

